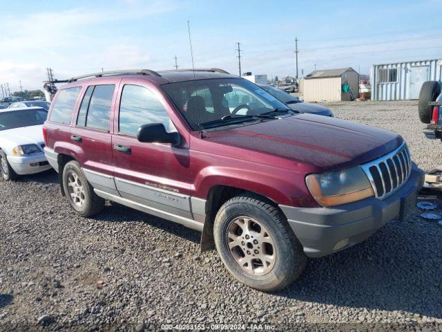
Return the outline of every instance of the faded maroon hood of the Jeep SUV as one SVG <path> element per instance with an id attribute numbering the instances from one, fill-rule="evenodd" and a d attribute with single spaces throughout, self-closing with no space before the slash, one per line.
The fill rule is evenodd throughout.
<path id="1" fill-rule="evenodd" d="M 367 163 L 403 142 L 392 131 L 307 113 L 213 131 L 207 139 L 289 158 L 323 171 Z"/>

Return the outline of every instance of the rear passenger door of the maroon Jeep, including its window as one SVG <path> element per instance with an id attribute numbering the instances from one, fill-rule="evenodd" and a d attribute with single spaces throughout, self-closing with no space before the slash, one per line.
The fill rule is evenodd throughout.
<path id="1" fill-rule="evenodd" d="M 86 178 L 93 187 L 117 193 L 113 181 L 111 114 L 115 84 L 86 86 L 70 141 Z"/>

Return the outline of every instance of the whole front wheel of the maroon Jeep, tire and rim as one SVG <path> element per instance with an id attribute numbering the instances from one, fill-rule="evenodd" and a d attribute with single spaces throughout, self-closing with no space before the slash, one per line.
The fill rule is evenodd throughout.
<path id="1" fill-rule="evenodd" d="M 213 226 L 224 266 L 251 288 L 278 291 L 294 282 L 305 268 L 307 257 L 284 214 L 256 195 L 229 199 L 216 214 Z"/>

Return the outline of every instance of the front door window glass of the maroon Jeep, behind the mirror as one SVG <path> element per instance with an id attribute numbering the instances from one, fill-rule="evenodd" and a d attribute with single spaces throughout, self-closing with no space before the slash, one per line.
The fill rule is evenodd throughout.
<path id="1" fill-rule="evenodd" d="M 164 107 L 143 86 L 126 84 L 119 104 L 119 132 L 137 135 L 143 124 L 162 123 L 166 131 L 176 131 Z"/>

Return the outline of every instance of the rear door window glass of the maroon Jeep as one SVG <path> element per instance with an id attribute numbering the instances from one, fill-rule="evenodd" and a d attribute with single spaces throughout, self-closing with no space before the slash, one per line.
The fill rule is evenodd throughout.
<path id="1" fill-rule="evenodd" d="M 77 125 L 109 131 L 109 118 L 115 85 L 89 86 L 81 101 Z"/>

